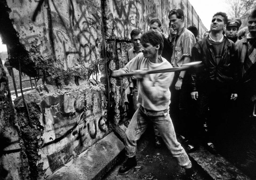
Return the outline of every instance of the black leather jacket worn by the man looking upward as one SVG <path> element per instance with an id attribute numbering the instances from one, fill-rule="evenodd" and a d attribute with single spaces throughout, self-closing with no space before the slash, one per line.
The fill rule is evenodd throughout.
<path id="1" fill-rule="evenodd" d="M 191 73 L 192 90 L 198 91 L 198 87 L 204 88 L 211 82 L 230 87 L 231 92 L 236 92 L 238 58 L 237 49 L 233 41 L 224 36 L 224 47 L 219 63 L 215 61 L 213 45 L 209 41 L 209 35 L 198 41 L 192 48 L 191 61 L 202 61 L 202 67 L 197 73 Z"/>

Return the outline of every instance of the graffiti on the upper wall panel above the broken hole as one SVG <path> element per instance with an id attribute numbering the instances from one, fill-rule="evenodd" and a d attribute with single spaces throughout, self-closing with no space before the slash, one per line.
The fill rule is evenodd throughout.
<path id="1" fill-rule="evenodd" d="M 20 41 L 27 51 L 59 70 L 83 69 L 80 76 L 89 77 L 99 62 L 101 49 L 100 1 L 88 5 L 85 1 L 8 2 L 13 6 Z M 27 12 L 20 11 L 20 6 Z M 39 60 L 39 58 L 37 58 Z M 40 62 L 39 62 L 40 63 Z M 49 61 L 48 61 L 49 63 Z M 56 74 L 56 73 L 55 73 Z"/>

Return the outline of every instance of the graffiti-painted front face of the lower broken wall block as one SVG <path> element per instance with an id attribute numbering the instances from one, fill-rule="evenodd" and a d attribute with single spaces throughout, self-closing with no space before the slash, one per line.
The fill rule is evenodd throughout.
<path id="1" fill-rule="evenodd" d="M 41 102 L 42 158 L 51 171 L 79 155 L 108 132 L 106 102 L 101 89 L 86 89 L 57 97 L 48 96 Z"/>

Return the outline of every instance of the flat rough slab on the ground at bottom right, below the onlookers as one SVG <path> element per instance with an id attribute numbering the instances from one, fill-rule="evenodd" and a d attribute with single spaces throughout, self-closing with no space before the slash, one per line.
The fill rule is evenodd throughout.
<path id="1" fill-rule="evenodd" d="M 200 147 L 189 155 L 215 180 L 250 179 L 224 157 L 213 155 L 204 147 Z"/>

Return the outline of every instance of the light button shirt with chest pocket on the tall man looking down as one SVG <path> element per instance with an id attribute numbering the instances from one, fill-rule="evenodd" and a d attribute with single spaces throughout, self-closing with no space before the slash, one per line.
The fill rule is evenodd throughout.
<path id="1" fill-rule="evenodd" d="M 191 57 L 191 50 L 195 43 L 196 40 L 193 33 L 183 27 L 174 39 L 173 55 L 171 56 L 173 67 L 181 66 L 184 57 Z"/>

